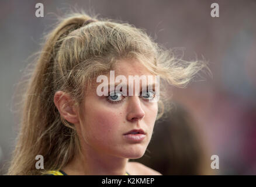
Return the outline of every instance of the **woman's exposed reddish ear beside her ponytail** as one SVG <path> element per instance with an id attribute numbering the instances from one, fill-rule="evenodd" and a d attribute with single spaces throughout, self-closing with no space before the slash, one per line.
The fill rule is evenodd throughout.
<path id="1" fill-rule="evenodd" d="M 65 120 L 72 124 L 79 123 L 78 110 L 74 105 L 74 101 L 67 93 L 57 91 L 54 94 L 54 104 L 56 105 L 58 112 L 60 112 L 60 115 L 63 116 Z"/>

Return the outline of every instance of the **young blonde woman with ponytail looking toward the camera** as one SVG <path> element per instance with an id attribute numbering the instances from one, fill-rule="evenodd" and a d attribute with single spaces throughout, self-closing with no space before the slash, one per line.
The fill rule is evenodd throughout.
<path id="1" fill-rule="evenodd" d="M 146 151 L 155 120 L 164 113 L 166 83 L 184 87 L 205 68 L 203 61 L 175 58 L 127 23 L 68 15 L 47 35 L 27 79 L 8 174 L 161 175 L 129 159 Z M 126 79 L 158 75 L 160 82 L 151 79 L 146 87 L 152 84 L 152 90 L 142 94 L 140 85 L 133 95 L 111 91 L 107 84 L 108 95 L 100 96 L 97 77 L 110 78 L 111 70 Z M 127 91 L 132 85 L 127 82 Z M 149 102 L 157 86 L 160 100 Z M 43 156 L 43 169 L 35 167 L 36 155 Z"/>

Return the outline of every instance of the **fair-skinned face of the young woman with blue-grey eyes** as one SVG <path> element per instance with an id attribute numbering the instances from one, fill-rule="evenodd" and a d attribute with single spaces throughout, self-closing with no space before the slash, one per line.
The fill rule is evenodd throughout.
<path id="1" fill-rule="evenodd" d="M 129 75 L 154 77 L 137 60 L 119 61 L 114 70 L 115 77 L 118 75 L 126 77 L 127 91 L 134 84 L 129 82 Z M 148 81 L 147 84 L 157 86 L 155 79 L 151 81 L 153 82 Z M 140 84 L 140 91 L 141 87 Z M 136 92 L 135 89 L 133 90 Z M 79 124 L 78 131 L 84 146 L 120 158 L 140 158 L 144 155 L 153 134 L 158 110 L 157 102 L 148 102 L 147 96 L 141 94 L 98 96 L 95 88 L 85 96 L 84 108 L 83 122 Z M 134 129 L 144 131 L 143 140 L 134 141 L 124 135 Z"/>

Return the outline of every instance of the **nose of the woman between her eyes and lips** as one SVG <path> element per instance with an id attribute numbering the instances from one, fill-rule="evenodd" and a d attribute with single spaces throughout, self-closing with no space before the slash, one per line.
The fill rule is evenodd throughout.
<path id="1" fill-rule="evenodd" d="M 141 108 L 139 96 L 130 96 L 128 103 L 127 120 L 130 122 L 136 122 L 143 119 L 145 116 L 144 110 Z"/>

